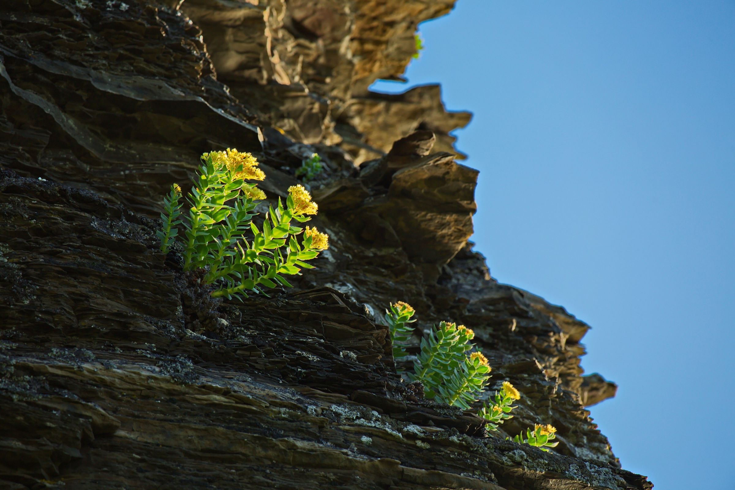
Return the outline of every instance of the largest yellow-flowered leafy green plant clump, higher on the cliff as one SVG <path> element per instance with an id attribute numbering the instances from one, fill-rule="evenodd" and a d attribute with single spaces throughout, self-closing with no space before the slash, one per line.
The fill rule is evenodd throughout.
<path id="1" fill-rule="evenodd" d="M 202 165 L 187 196 L 188 214 L 182 218 L 181 189 L 173 184 L 164 199 L 162 229 L 158 232 L 161 251 L 168 252 L 184 226 L 184 270 L 206 270 L 201 282 L 215 284 L 212 297 L 247 297 L 246 291 L 263 292 L 264 287 L 290 287 L 284 275 L 301 273 L 314 266 L 314 259 L 329 247 L 329 237 L 316 228 L 300 228 L 316 215 L 318 206 L 301 185 L 288 188 L 286 206 L 279 198 L 269 206 L 262 229 L 253 223 L 265 192 L 247 180 L 262 181 L 265 173 L 257 159 L 235 149 L 212 151 L 201 156 Z M 179 219 L 182 218 L 182 219 Z M 297 237 L 301 235 L 301 242 Z"/>

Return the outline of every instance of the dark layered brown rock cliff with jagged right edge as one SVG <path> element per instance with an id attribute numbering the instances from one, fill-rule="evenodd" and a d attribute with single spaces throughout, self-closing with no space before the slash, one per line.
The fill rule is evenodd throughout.
<path id="1" fill-rule="evenodd" d="M 477 172 L 448 135 L 469 115 L 438 87 L 368 91 L 452 5 L 0 2 L 2 488 L 651 488 L 584 409 L 614 395 L 582 376 L 589 327 L 471 251 Z M 271 202 L 324 164 L 331 247 L 244 303 L 155 239 L 163 192 L 228 146 Z M 491 391 L 522 394 L 501 432 L 401 379 L 395 300 L 419 312 L 414 352 L 440 320 L 474 329 Z M 503 440 L 534 423 L 555 453 Z"/>

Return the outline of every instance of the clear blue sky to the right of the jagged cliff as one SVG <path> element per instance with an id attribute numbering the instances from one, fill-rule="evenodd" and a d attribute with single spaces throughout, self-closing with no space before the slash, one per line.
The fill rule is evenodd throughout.
<path id="1" fill-rule="evenodd" d="M 459 0 L 400 92 L 439 82 L 481 170 L 476 249 L 592 325 L 591 408 L 656 489 L 735 489 L 735 1 Z"/>

